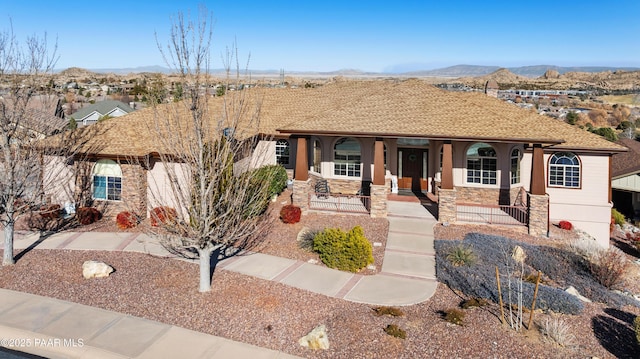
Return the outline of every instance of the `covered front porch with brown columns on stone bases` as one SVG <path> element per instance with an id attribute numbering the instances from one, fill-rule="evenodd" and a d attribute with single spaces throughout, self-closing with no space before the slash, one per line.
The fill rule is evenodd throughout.
<path id="1" fill-rule="evenodd" d="M 437 203 L 439 222 L 548 232 L 542 144 L 469 139 L 303 136 L 295 141 L 293 202 L 303 210 L 387 215 L 390 194 Z M 317 191 L 326 182 L 328 194 Z"/>

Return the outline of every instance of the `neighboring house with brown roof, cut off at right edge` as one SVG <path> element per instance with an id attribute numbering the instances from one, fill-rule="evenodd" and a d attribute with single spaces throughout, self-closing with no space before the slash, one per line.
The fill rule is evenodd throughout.
<path id="1" fill-rule="evenodd" d="M 640 219 L 640 142 L 628 138 L 618 141 L 628 152 L 613 156 L 611 189 L 613 206 L 627 218 Z"/>

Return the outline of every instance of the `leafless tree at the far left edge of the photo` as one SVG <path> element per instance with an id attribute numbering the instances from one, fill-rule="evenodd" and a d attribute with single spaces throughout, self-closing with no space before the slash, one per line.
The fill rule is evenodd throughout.
<path id="1" fill-rule="evenodd" d="M 45 153 L 39 139 L 60 130 L 65 122 L 48 111 L 57 97 L 46 84 L 56 62 L 55 47 L 44 37 L 18 41 L 13 30 L 0 33 L 0 223 L 4 227 L 3 265 L 14 264 L 17 218 L 44 202 L 42 168 Z M 52 102 L 54 102 L 52 104 Z M 60 120 L 60 121 L 58 121 Z"/>

